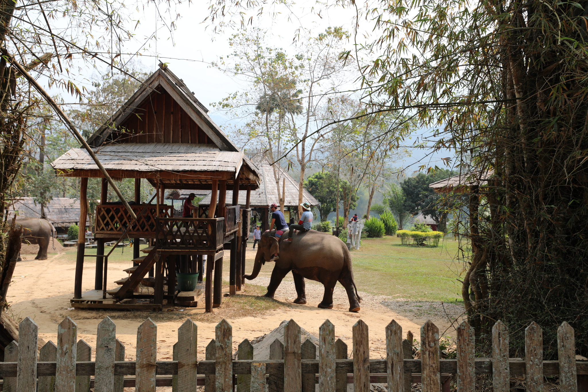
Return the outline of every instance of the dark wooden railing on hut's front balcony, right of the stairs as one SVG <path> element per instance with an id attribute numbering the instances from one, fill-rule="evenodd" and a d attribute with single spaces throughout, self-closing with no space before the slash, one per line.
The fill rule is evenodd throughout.
<path id="1" fill-rule="evenodd" d="M 158 218 L 158 249 L 217 249 L 225 237 L 225 218 Z M 220 244 L 219 244 L 220 243 Z"/>

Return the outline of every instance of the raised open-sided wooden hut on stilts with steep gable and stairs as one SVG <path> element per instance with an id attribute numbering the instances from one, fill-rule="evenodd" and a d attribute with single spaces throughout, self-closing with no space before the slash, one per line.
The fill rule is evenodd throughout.
<path id="1" fill-rule="evenodd" d="M 103 203 L 96 207 L 94 235 L 97 255 L 84 254 L 78 246 L 73 307 L 162 309 L 163 300 L 176 301 L 177 263 L 185 272 L 204 274 L 202 256 L 206 255 L 206 311 L 220 306 L 222 294 L 223 247 L 230 243 L 230 292 L 240 290 L 242 263 L 237 263 L 240 233 L 248 228 L 248 198 L 240 208 L 238 200 L 226 199 L 226 191 L 257 189 L 258 169 L 209 118 L 208 110 L 163 64 L 143 83 L 131 99 L 88 139 L 96 156 L 114 179 L 135 179 L 135 200 L 131 206 L 137 219 L 124 206 Z M 103 177 L 85 149 L 75 148 L 52 163 L 58 175 L 81 177 L 80 226 L 85 226 L 88 177 Z M 141 180 L 156 190 L 155 203 L 141 203 Z M 162 203 L 165 189 L 211 190 L 212 200 L 198 216 L 183 218 L 171 213 Z M 217 192 L 218 191 L 218 192 Z M 106 200 L 108 182 L 102 179 L 101 200 Z M 83 233 L 83 231 L 81 231 Z M 135 241 L 133 263 L 126 269 L 129 277 L 121 286 L 106 290 L 108 255 L 104 243 L 122 237 L 151 239 L 153 246 L 142 249 Z M 83 243 L 83 235 L 78 239 Z M 96 258 L 94 290 L 82 293 L 82 271 L 88 257 Z M 155 267 L 153 292 L 137 293 L 148 271 Z M 214 273 L 214 276 L 212 274 Z M 167 282 L 164 285 L 164 282 Z M 213 283 L 214 282 L 214 283 Z M 167 290 L 164 292 L 164 286 Z M 148 303 L 137 303 L 149 300 Z M 147 301 L 144 301 L 147 302 Z"/>

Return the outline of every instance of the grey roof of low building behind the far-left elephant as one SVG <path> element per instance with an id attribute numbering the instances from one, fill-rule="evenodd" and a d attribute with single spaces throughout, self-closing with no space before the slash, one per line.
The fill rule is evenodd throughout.
<path id="1" fill-rule="evenodd" d="M 28 218 L 41 218 L 41 205 L 35 204 L 34 197 L 21 197 L 12 200 L 8 206 L 9 215 L 17 213 L 18 216 Z M 45 207 L 47 220 L 54 226 L 68 227 L 79 222 L 79 199 L 69 199 L 67 197 L 54 197 Z M 86 222 L 89 222 L 86 217 Z"/>

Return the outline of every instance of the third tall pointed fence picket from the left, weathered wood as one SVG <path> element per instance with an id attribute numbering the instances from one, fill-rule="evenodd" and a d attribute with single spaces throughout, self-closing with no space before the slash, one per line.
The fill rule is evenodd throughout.
<path id="1" fill-rule="evenodd" d="M 98 324 L 96 335 L 96 370 L 94 392 L 114 392 L 114 361 L 116 350 L 116 326 L 110 317 Z"/>

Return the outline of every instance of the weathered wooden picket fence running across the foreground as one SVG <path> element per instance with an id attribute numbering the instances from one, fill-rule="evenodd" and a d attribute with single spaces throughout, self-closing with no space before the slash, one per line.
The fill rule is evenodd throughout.
<path id="1" fill-rule="evenodd" d="M 0 363 L 2 390 L 120 392 L 134 386 L 136 391 L 154 392 L 156 386 L 165 385 L 161 380 L 168 380 L 178 392 L 195 391 L 199 384 L 206 392 L 229 392 L 235 387 L 239 392 L 308 392 L 315 391 L 317 382 L 320 392 L 340 392 L 352 380 L 355 392 L 369 392 L 370 382 L 387 383 L 388 391 L 407 392 L 416 376 L 423 392 L 440 392 L 442 378 L 453 376 L 457 392 L 474 392 L 475 375 L 492 374 L 493 391 L 509 392 L 510 375 L 525 374 L 527 391 L 541 392 L 544 375 L 559 375 L 559 391 L 576 392 L 577 376 L 588 374 L 588 363 L 576 361 L 574 330 L 567 323 L 557 330 L 557 361 L 543 361 L 542 330 L 536 323 L 525 330 L 524 360 L 509 359 L 509 335 L 501 321 L 492 329 L 492 359 L 475 357 L 474 331 L 466 322 L 457 329 L 457 359 L 440 359 L 439 330 L 431 321 L 420 330 L 420 359 L 406 358 L 410 343 L 402 339 L 402 328 L 394 320 L 386 327 L 386 359 L 369 359 L 368 326 L 362 320 L 353 326 L 353 359 L 347 359 L 345 343 L 335 340 L 329 320 L 319 329 L 318 360 L 315 344 L 310 340 L 301 344 L 295 321 L 283 328 L 283 343 L 276 339 L 270 348 L 275 359 L 253 360 L 253 347 L 244 340 L 239 359 L 233 360 L 232 327 L 222 320 L 206 347 L 206 360 L 198 361 L 198 327 L 188 319 L 178 329 L 173 360 L 157 361 L 157 325 L 147 319 L 137 330 L 136 360 L 125 361 L 115 324 L 106 317 L 98 325 L 92 361 L 91 347 L 78 341 L 77 326 L 69 317 L 58 326 L 57 344 L 50 341 L 41 350 L 38 328 L 27 317 L 19 326 L 19 342 L 6 347 L 5 362 Z M 172 377 L 161 378 L 166 375 Z"/>

